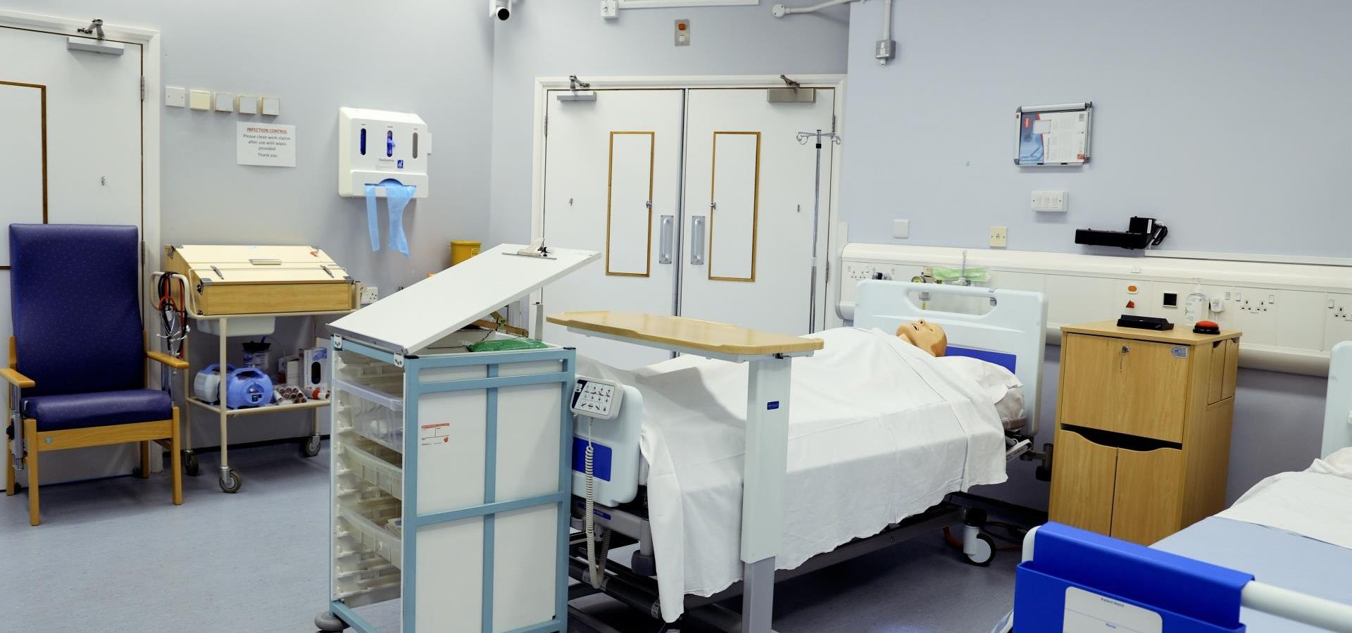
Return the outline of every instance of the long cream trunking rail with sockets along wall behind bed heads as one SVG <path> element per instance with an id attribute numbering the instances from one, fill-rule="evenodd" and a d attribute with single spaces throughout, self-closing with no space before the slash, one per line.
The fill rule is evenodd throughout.
<path id="1" fill-rule="evenodd" d="M 1326 376 L 1329 352 L 1352 339 L 1352 266 L 1169 258 L 1163 253 L 1114 257 L 848 243 L 841 253 L 837 311 L 844 319 L 854 318 L 860 280 L 909 281 L 925 266 L 961 268 L 965 260 L 968 268 L 990 269 L 990 281 L 979 285 L 1046 294 L 1048 342 L 1053 344 L 1060 344 L 1063 325 L 1121 314 L 1183 323 L 1194 280 L 1201 280 L 1203 294 L 1218 299 L 1222 308 L 1203 318 L 1222 329 L 1244 330 L 1240 367 Z M 977 302 L 969 303 L 969 310 L 983 310 Z M 948 308 L 953 306 L 945 304 Z"/>

